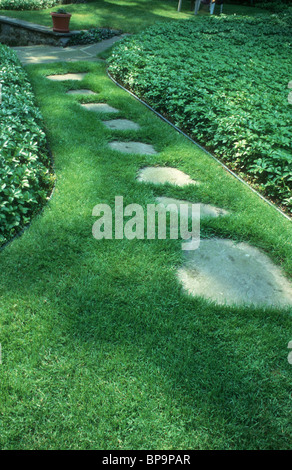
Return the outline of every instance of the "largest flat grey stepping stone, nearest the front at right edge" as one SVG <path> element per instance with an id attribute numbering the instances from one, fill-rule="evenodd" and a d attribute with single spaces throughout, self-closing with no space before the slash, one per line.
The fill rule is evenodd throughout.
<path id="1" fill-rule="evenodd" d="M 215 238 L 184 251 L 177 277 L 193 296 L 225 305 L 292 305 L 292 286 L 269 257 L 247 243 Z"/>

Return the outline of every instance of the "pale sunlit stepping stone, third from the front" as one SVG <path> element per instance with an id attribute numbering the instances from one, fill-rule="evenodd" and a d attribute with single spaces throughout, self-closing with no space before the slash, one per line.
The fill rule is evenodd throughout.
<path id="1" fill-rule="evenodd" d="M 173 184 L 176 186 L 186 186 L 189 184 L 199 184 L 192 180 L 189 175 L 177 168 L 171 167 L 146 167 L 139 171 L 137 180 L 144 183 Z"/>

